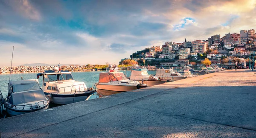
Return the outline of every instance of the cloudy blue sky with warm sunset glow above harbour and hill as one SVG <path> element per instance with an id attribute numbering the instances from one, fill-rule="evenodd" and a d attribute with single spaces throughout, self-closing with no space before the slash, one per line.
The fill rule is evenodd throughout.
<path id="1" fill-rule="evenodd" d="M 0 0 L 0 66 L 118 64 L 164 42 L 256 29 L 256 0 Z"/>

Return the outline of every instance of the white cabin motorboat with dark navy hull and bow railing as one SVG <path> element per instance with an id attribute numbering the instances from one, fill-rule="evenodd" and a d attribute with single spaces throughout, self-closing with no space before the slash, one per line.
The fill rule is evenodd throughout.
<path id="1" fill-rule="evenodd" d="M 78 101 L 88 100 L 90 95 L 95 94 L 96 90 L 87 90 L 84 82 L 78 82 L 73 79 L 71 72 L 67 70 L 44 70 L 38 73 L 43 76 L 44 94 L 49 97 L 54 104 L 70 104 Z"/>

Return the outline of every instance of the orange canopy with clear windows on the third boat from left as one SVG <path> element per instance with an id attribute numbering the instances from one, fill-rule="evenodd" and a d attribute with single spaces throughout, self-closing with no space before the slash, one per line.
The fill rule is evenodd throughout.
<path id="1" fill-rule="evenodd" d="M 108 83 L 114 81 L 128 80 L 122 72 L 103 72 L 99 73 L 99 82 Z"/>

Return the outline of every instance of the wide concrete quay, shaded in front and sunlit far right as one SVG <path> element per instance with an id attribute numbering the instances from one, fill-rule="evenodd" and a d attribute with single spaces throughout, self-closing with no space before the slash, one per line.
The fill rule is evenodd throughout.
<path id="1" fill-rule="evenodd" d="M 225 70 L 0 119 L 2 138 L 256 138 L 256 72 Z"/>

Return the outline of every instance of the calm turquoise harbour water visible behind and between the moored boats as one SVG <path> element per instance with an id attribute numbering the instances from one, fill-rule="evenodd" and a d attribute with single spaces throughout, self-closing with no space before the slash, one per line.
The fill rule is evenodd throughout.
<path id="1" fill-rule="evenodd" d="M 93 85 L 99 81 L 99 73 L 105 71 L 91 71 L 91 72 L 72 72 L 72 76 L 76 81 L 84 82 L 87 87 L 93 87 Z M 131 70 L 121 70 L 126 76 L 131 76 Z M 148 70 L 148 74 L 155 74 L 156 71 Z M 38 73 L 15 73 L 11 74 L 11 80 L 23 79 L 36 79 Z M 6 97 L 8 91 L 8 82 L 10 74 L 0 74 L 0 90 L 3 93 L 3 98 Z M 39 84 L 42 87 L 42 76 L 39 78 Z"/>

